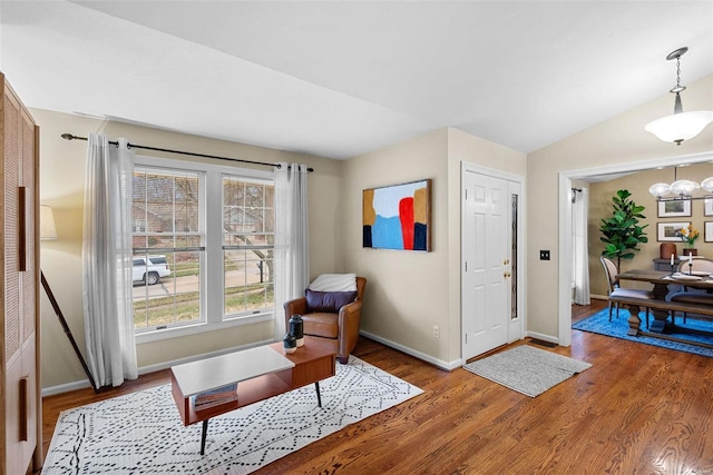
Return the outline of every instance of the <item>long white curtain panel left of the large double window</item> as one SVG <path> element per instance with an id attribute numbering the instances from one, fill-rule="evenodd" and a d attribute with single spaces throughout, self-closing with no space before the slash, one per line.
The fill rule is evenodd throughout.
<path id="1" fill-rule="evenodd" d="M 136 379 L 131 305 L 134 154 L 104 135 L 87 147 L 84 219 L 84 311 L 87 365 L 97 385 Z"/>

